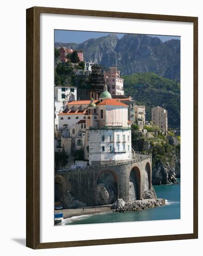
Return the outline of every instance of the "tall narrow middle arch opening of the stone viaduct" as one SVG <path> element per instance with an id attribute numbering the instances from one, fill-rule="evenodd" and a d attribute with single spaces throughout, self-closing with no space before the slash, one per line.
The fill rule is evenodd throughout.
<path id="1" fill-rule="evenodd" d="M 129 201 L 141 199 L 141 175 L 140 169 L 134 166 L 129 175 Z"/>

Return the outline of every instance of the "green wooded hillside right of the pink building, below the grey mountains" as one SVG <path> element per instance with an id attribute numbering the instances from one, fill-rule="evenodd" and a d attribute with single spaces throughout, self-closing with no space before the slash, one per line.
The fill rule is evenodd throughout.
<path id="1" fill-rule="evenodd" d="M 146 106 L 146 120 L 151 119 L 151 108 L 160 106 L 168 110 L 169 127 L 180 128 L 180 83 L 154 73 L 124 75 L 126 95 L 136 105 Z"/>

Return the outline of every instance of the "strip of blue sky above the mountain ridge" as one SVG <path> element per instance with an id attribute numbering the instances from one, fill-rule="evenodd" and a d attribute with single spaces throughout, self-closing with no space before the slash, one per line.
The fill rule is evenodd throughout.
<path id="1" fill-rule="evenodd" d="M 87 31 L 70 31 L 70 30 L 55 30 L 55 42 L 63 43 L 82 43 L 90 38 L 98 38 L 101 36 L 106 36 L 110 33 L 106 32 L 87 32 Z M 120 39 L 124 34 L 116 33 L 117 37 Z M 168 36 L 168 35 L 150 35 L 153 37 L 159 37 L 162 41 L 178 39 L 179 36 Z"/>

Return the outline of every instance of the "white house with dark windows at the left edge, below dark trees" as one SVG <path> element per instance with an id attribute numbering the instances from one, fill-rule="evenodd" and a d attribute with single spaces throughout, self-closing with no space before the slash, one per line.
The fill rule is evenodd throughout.
<path id="1" fill-rule="evenodd" d="M 55 101 L 76 101 L 77 88 L 70 86 L 55 86 L 54 99 Z"/>

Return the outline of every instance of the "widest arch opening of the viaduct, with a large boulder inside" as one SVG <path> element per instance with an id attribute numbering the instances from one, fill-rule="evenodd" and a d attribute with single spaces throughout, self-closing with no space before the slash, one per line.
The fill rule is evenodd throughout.
<path id="1" fill-rule="evenodd" d="M 118 199 L 118 176 L 113 171 L 101 171 L 95 184 L 97 205 L 111 204 Z"/>

